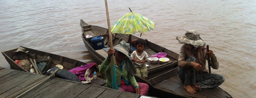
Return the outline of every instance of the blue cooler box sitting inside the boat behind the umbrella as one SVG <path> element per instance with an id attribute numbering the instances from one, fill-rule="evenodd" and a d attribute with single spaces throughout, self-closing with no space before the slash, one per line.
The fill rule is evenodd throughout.
<path id="1" fill-rule="evenodd" d="M 104 38 L 101 36 L 96 36 L 91 39 L 91 46 L 94 50 L 100 50 L 105 48 L 104 46 Z"/>

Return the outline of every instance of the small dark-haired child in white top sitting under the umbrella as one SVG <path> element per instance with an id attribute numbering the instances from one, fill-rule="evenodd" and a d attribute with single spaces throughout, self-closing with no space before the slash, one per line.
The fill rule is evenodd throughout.
<path id="1" fill-rule="evenodd" d="M 135 46 L 136 50 L 131 53 L 131 61 L 136 68 L 136 75 L 142 78 L 148 77 L 148 68 L 145 62 L 147 62 L 148 54 L 144 51 L 146 41 L 143 39 L 137 39 Z"/>

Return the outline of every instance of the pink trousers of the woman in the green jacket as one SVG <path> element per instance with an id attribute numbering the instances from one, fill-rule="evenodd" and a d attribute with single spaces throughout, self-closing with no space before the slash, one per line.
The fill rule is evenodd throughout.
<path id="1" fill-rule="evenodd" d="M 140 95 L 146 95 L 148 93 L 148 84 L 146 83 L 139 83 L 137 82 L 138 85 L 140 86 Z M 130 93 L 136 93 L 135 88 L 133 88 L 133 86 L 127 86 L 126 84 L 123 86 L 120 86 L 120 88 L 122 89 L 118 89 L 119 91 L 126 91 L 126 92 L 130 92 Z"/>

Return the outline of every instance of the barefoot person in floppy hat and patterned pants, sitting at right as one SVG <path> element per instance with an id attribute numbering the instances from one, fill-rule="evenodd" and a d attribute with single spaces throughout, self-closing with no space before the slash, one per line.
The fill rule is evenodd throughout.
<path id="1" fill-rule="evenodd" d="M 212 50 L 207 52 L 205 42 L 195 30 L 186 31 L 185 35 L 176 37 L 181 46 L 178 58 L 178 75 L 184 82 L 184 88 L 190 94 L 200 91 L 201 88 L 218 87 L 225 81 L 224 76 L 208 73 L 206 69 L 207 56 L 211 58 L 211 67 L 219 68 L 219 63 Z"/>

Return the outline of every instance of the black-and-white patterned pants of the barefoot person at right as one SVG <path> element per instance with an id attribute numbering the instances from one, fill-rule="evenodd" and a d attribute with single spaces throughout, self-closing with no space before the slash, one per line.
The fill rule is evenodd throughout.
<path id="1" fill-rule="evenodd" d="M 195 57 L 188 57 L 186 61 L 196 62 Z M 201 88 L 214 88 L 218 87 L 225 81 L 224 76 L 208 73 L 208 72 L 197 72 L 193 67 L 189 68 L 178 68 L 179 79 L 184 84 L 198 84 Z"/>

